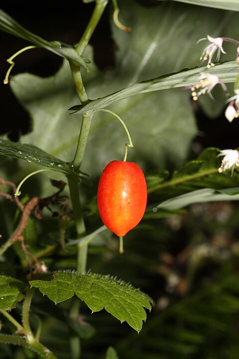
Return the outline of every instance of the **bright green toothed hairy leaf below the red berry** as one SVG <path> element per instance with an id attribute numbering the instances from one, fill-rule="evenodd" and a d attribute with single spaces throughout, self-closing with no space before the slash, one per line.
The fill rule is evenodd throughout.
<path id="1" fill-rule="evenodd" d="M 146 320 L 143 309 L 151 309 L 152 300 L 138 289 L 122 281 L 98 274 L 55 273 L 51 281 L 34 280 L 31 287 L 39 288 L 55 304 L 77 295 L 92 312 L 103 308 L 139 332 Z"/>

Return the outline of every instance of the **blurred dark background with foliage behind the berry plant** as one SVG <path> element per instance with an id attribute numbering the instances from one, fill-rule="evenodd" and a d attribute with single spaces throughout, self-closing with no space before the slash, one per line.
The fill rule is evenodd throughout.
<path id="1" fill-rule="evenodd" d="M 37 13 L 30 2 L 5 3 L 1 8 L 43 38 L 74 44 L 87 24 L 93 4 L 38 3 Z M 112 8 L 108 6 L 84 54 L 92 60 L 92 72 L 84 74 L 91 99 L 136 81 L 200 66 L 199 57 L 206 42 L 198 45 L 196 42 L 207 34 L 239 39 L 238 12 L 156 0 L 119 0 L 119 8 L 121 22 L 131 26 L 132 31 L 126 33 L 115 27 Z M 4 59 L 25 46 L 26 41 L 5 33 L 0 33 L 0 41 L 3 79 L 7 70 Z M 225 50 L 227 55 L 223 55 L 222 61 L 234 60 L 235 47 L 225 44 Z M 60 58 L 43 49 L 33 49 L 17 58 L 13 73 L 29 73 L 11 78 L 11 90 L 17 99 L 9 87 L 0 85 L 0 132 L 13 141 L 34 144 L 69 161 L 76 146 L 80 118 L 69 117 L 67 110 L 79 101 L 68 65 L 61 65 Z M 215 101 L 205 96 L 192 103 L 190 91 L 172 89 L 112 105 L 111 109 L 123 118 L 132 136 L 134 148 L 129 151 L 128 160 L 137 162 L 150 177 L 161 170 L 176 170 L 186 161 L 196 159 L 207 147 L 237 147 L 239 122 L 229 124 L 225 119 L 221 89 L 216 88 L 213 95 Z M 88 233 L 102 225 L 96 207 L 99 176 L 108 162 L 122 159 L 125 140 L 117 121 L 106 114 L 95 116 L 82 168 L 93 181 L 91 188 L 81 185 Z M 33 169 L 32 164 L 0 158 L 0 176 L 15 183 Z M 39 175 L 28 180 L 22 187 L 25 201 L 29 196 L 52 193 L 55 189 L 49 177 L 52 178 Z M 59 179 L 58 175 L 53 177 Z M 238 174 L 235 178 L 228 174 L 227 180 L 231 181 L 229 186 L 236 187 Z M 203 179 L 200 181 L 197 186 L 201 183 L 205 187 Z M 180 190 L 177 187 L 173 193 L 169 189 L 152 193 L 149 205 L 184 193 Z M 52 210 L 59 212 L 59 208 Z M 56 216 L 45 210 L 43 214 L 41 221 L 35 218 L 28 221 L 24 232 L 26 244 L 50 270 L 75 269 L 75 247 L 63 246 L 64 240 L 74 238 L 72 221 L 65 226 L 62 212 Z M 0 215 L 3 242 L 15 227 L 19 213 L 14 204 L 1 198 Z M 69 318 L 70 300 L 55 306 L 36 292 L 31 324 L 35 330 L 41 324 L 42 343 L 59 359 L 70 359 L 72 333 L 82 338 L 82 359 L 105 358 L 109 346 L 116 349 L 120 359 L 237 359 L 238 202 L 198 203 L 165 212 L 161 217 L 145 215 L 124 242 L 125 252 L 120 255 L 114 234 L 109 231 L 98 234 L 89 248 L 88 268 L 130 282 L 154 299 L 155 306 L 147 313 L 139 335 L 104 311 L 91 315 L 84 304 L 75 323 Z M 0 257 L 0 273 L 19 279 L 27 275 L 17 243 Z M 20 309 L 21 303 L 14 310 L 19 320 Z M 2 332 L 12 333 L 12 326 L 3 317 L 1 320 Z M 26 349 L 0 345 L 0 358 L 37 356 Z"/>

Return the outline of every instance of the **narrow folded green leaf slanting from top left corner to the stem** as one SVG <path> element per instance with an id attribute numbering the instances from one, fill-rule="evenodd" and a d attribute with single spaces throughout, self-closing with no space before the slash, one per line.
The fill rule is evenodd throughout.
<path id="1" fill-rule="evenodd" d="M 36 46 L 43 47 L 48 51 L 66 58 L 67 60 L 75 61 L 82 65 L 87 71 L 89 67 L 85 59 L 78 54 L 75 47 L 68 44 L 63 44 L 59 41 L 46 41 L 38 35 L 26 30 L 17 21 L 15 21 L 6 12 L 0 9 L 0 30 L 10 33 L 11 35 L 23 38 L 34 43 Z"/>

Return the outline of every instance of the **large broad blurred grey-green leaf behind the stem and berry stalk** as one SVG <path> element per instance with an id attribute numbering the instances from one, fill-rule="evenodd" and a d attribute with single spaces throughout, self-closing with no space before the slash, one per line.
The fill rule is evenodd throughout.
<path id="1" fill-rule="evenodd" d="M 197 40 L 207 33 L 219 34 L 234 21 L 233 15 L 225 17 L 222 10 L 195 8 L 173 2 L 144 8 L 133 1 L 120 1 L 120 15 L 124 23 L 132 27 L 132 31 L 124 32 L 113 26 L 113 35 L 118 45 L 114 71 L 102 75 L 93 68 L 90 76 L 83 74 L 91 99 L 108 96 L 149 78 L 199 65 L 205 44 L 200 42 L 196 45 Z M 92 58 L 89 49 L 87 51 L 85 56 Z M 227 69 L 222 68 L 225 70 L 224 76 L 231 73 L 232 68 L 235 70 L 235 64 L 229 65 L 230 68 L 227 68 L 228 64 L 222 65 Z M 213 70 L 217 68 L 219 66 Z M 199 74 L 201 70 L 195 71 L 190 76 Z M 176 77 L 174 80 L 173 76 Z M 174 85 L 172 82 L 168 85 L 164 82 L 164 88 L 176 86 L 180 82 L 177 76 L 181 76 L 181 80 L 184 78 L 186 84 L 186 74 L 182 72 L 172 75 Z M 230 76 L 233 78 L 233 73 Z M 196 77 L 192 77 L 193 82 Z M 161 84 L 161 80 L 163 78 L 156 84 Z M 48 79 L 29 74 L 15 76 L 11 87 L 33 118 L 33 131 L 24 136 L 22 141 L 35 144 L 66 162 L 72 161 L 81 117 L 78 119 L 77 116 L 67 114 L 67 109 L 79 103 L 68 65 L 64 64 L 56 76 Z M 147 167 L 164 169 L 183 163 L 191 139 L 196 134 L 193 111 L 188 101 L 189 92 L 170 89 L 141 93 L 110 106 L 122 117 L 130 131 L 134 144 L 134 148 L 128 152 L 130 161 L 137 162 L 146 170 Z M 176 138 L 172 136 L 175 133 Z M 93 117 L 82 170 L 91 176 L 99 176 L 108 162 L 123 158 L 126 141 L 125 132 L 115 118 L 97 113 Z"/>

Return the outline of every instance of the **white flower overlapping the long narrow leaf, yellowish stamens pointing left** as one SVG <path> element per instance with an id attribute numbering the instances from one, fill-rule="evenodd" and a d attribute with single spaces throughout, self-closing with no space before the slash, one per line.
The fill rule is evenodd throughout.
<path id="1" fill-rule="evenodd" d="M 200 81 L 197 84 L 186 87 L 191 88 L 194 101 L 197 101 L 198 97 L 200 95 L 204 95 L 205 93 L 209 94 L 209 96 L 214 99 L 211 91 L 218 83 L 220 83 L 223 89 L 227 91 L 226 85 L 219 79 L 219 77 L 212 75 L 209 72 L 201 72 L 199 80 Z"/>

